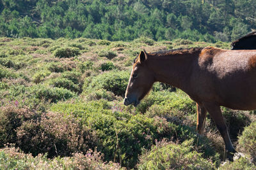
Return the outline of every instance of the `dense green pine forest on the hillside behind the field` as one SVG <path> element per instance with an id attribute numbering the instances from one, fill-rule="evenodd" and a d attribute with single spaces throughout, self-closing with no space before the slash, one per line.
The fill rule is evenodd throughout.
<path id="1" fill-rule="evenodd" d="M 0 36 L 231 41 L 256 27 L 252 0 L 1 0 Z"/>

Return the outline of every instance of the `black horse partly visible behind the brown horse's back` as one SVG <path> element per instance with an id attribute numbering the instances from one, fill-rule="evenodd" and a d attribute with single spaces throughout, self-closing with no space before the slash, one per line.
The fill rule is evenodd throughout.
<path id="1" fill-rule="evenodd" d="M 256 31 L 233 41 L 231 46 L 231 50 L 256 50 Z"/>

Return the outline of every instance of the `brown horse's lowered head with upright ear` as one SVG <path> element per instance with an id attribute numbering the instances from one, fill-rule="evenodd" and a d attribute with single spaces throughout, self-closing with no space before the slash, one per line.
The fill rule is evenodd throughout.
<path id="1" fill-rule="evenodd" d="M 154 74 L 148 69 L 147 53 L 140 52 L 134 60 L 129 83 L 125 92 L 124 104 L 137 106 L 145 97 L 154 83 Z"/>

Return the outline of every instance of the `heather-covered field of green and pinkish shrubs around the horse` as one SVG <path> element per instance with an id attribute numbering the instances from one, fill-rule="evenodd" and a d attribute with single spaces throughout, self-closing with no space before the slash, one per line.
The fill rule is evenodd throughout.
<path id="1" fill-rule="evenodd" d="M 0 169 L 256 169 L 256 115 L 221 108 L 245 157 L 225 162 L 224 143 L 196 105 L 155 83 L 124 106 L 133 59 L 147 52 L 229 43 L 186 39 L 0 38 Z"/>

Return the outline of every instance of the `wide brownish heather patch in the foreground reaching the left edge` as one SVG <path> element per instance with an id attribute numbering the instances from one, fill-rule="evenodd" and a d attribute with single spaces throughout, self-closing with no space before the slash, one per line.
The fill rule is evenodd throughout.
<path id="1" fill-rule="evenodd" d="M 97 137 L 72 115 L 38 113 L 27 107 L 2 106 L 0 111 L 1 147 L 14 143 L 34 156 L 47 153 L 48 157 L 70 156 L 97 146 Z"/>

